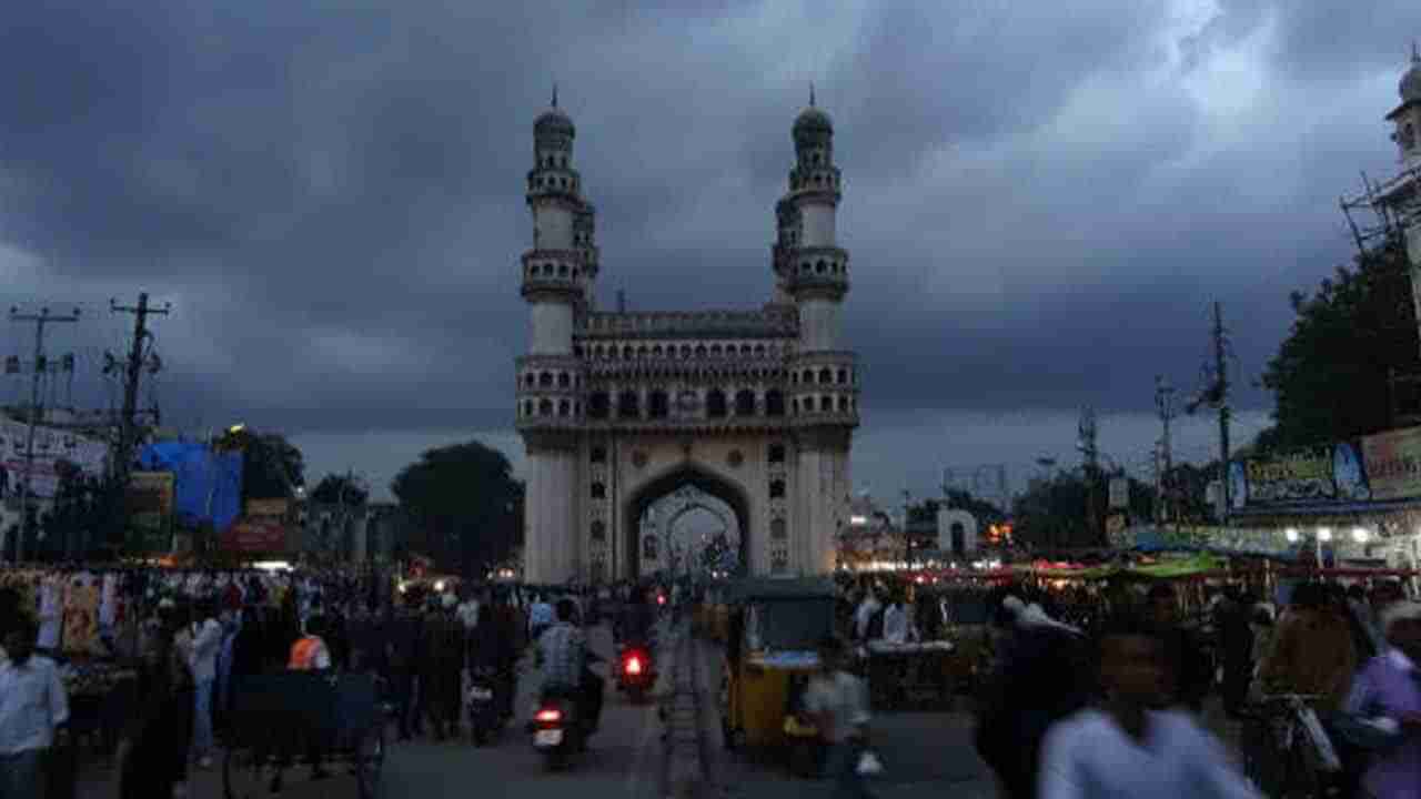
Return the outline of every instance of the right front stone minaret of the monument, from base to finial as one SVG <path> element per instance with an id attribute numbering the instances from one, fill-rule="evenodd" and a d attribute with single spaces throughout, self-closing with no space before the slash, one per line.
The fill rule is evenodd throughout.
<path id="1" fill-rule="evenodd" d="M 836 536 L 848 496 L 848 448 L 858 425 L 853 353 L 840 344 L 840 306 L 848 293 L 848 253 L 838 246 L 841 181 L 834 166 L 834 125 L 814 104 L 794 119 L 794 168 L 776 206 L 777 296 L 799 310 L 797 353 L 790 358 L 794 456 L 791 569 L 834 569 Z"/>

